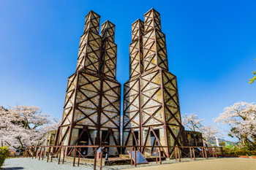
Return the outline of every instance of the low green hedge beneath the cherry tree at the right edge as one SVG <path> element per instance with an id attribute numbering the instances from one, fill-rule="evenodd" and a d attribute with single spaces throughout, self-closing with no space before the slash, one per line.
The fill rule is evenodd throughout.
<path id="1" fill-rule="evenodd" d="M 225 147 L 223 150 L 224 155 L 256 155 L 256 150 L 249 150 L 246 147 Z"/>

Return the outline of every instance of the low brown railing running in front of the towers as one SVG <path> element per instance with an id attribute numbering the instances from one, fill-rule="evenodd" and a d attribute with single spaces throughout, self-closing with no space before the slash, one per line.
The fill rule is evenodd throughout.
<path id="1" fill-rule="evenodd" d="M 110 152 L 115 150 L 116 154 Z M 114 149 L 113 149 L 114 148 Z M 86 150 L 86 152 L 82 152 Z M 90 151 L 89 151 L 90 150 Z M 128 154 L 128 151 L 131 155 Z M 81 146 L 27 146 L 23 152 L 25 158 L 38 158 L 38 160 L 53 161 L 64 163 L 65 160 L 72 162 L 72 166 L 83 163 L 93 165 L 93 169 L 102 169 L 103 166 L 114 165 L 115 163 L 130 164 L 137 166 L 136 151 L 147 161 L 162 163 L 166 160 L 181 162 L 184 158 L 195 161 L 197 158 L 208 159 L 223 157 L 222 147 L 166 147 L 166 146 L 120 146 L 120 145 L 81 145 Z M 132 157 L 132 154 L 135 158 Z M 105 158 L 103 158 L 105 155 Z M 133 159 L 132 159 L 133 158 Z M 102 165 L 103 163 L 103 165 Z"/>

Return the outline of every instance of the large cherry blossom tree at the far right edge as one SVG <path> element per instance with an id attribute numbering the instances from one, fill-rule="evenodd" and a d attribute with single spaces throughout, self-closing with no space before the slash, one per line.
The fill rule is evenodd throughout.
<path id="1" fill-rule="evenodd" d="M 214 121 L 229 125 L 229 136 L 237 137 L 244 145 L 256 149 L 256 104 L 237 102 L 225 107 Z"/>

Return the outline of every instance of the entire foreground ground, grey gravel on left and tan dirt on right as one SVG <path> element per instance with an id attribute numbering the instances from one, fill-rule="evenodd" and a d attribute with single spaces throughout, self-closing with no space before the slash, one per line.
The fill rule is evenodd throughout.
<path id="1" fill-rule="evenodd" d="M 162 161 L 162 165 L 156 162 L 150 162 L 148 164 L 138 165 L 136 170 L 155 170 L 155 169 L 256 169 L 256 159 L 248 158 L 197 158 L 196 161 L 191 161 L 190 158 L 183 158 L 178 163 L 175 160 Z M 146 166 L 146 167 L 145 167 Z M 64 164 L 58 164 L 57 159 L 53 159 L 53 162 L 38 161 L 38 159 L 31 158 L 11 158 L 4 162 L 3 170 L 6 169 L 29 169 L 29 170 L 45 170 L 45 169 L 85 169 L 92 170 L 93 165 L 80 164 L 78 167 L 72 166 L 71 162 L 65 161 Z M 99 166 L 97 166 L 99 169 Z M 103 166 L 103 170 L 114 169 L 129 169 L 133 170 L 134 166 L 121 165 L 121 166 Z"/>

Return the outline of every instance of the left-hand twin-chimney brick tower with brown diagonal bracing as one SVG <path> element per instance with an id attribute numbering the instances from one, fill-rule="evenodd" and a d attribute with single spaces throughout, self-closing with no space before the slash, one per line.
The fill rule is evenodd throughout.
<path id="1" fill-rule="evenodd" d="M 120 144 L 121 84 L 116 80 L 115 25 L 105 21 L 99 35 L 99 19 L 93 11 L 86 15 L 76 71 L 67 82 L 56 146 Z M 92 150 L 82 149 L 85 154 Z M 118 150 L 110 148 L 109 152 Z"/>

